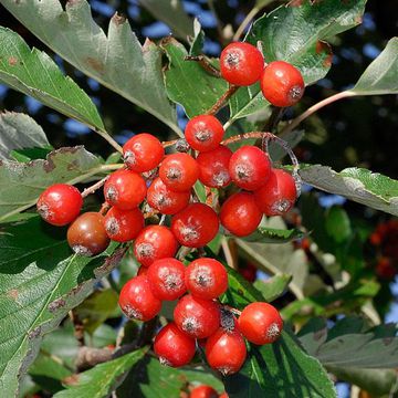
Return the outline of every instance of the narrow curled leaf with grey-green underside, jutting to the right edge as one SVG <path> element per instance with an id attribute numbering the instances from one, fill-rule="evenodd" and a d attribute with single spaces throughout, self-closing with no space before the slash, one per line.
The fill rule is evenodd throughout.
<path id="1" fill-rule="evenodd" d="M 315 188 L 398 216 L 398 181 L 389 177 L 362 168 L 337 172 L 321 165 L 304 166 L 300 175 Z"/>

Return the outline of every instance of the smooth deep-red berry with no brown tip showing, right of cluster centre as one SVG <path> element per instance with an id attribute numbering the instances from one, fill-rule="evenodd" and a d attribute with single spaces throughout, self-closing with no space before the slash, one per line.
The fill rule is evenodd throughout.
<path id="1" fill-rule="evenodd" d="M 253 193 L 231 195 L 221 206 L 220 222 L 237 237 L 247 237 L 255 231 L 262 219 L 262 212 L 255 205 Z"/>

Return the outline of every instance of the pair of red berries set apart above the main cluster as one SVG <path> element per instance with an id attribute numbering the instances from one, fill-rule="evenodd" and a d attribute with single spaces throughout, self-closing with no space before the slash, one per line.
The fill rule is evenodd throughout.
<path id="1" fill-rule="evenodd" d="M 264 97 L 274 106 L 296 104 L 304 94 L 300 71 L 284 61 L 264 63 L 262 53 L 249 43 L 231 43 L 221 52 L 221 76 L 238 86 L 260 81 Z"/>

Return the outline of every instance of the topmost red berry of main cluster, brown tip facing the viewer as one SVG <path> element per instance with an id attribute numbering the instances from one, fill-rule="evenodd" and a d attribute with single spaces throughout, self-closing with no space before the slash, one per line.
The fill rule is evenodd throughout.
<path id="1" fill-rule="evenodd" d="M 199 151 L 216 149 L 223 135 L 222 124 L 212 115 L 200 115 L 191 118 L 185 130 L 187 143 L 192 149 Z"/>

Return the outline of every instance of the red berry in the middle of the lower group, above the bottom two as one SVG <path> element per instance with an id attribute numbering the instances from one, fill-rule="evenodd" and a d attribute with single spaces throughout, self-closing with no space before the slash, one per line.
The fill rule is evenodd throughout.
<path id="1" fill-rule="evenodd" d="M 192 338 L 211 336 L 220 326 L 219 304 L 188 294 L 179 300 L 174 311 L 176 325 Z"/>

